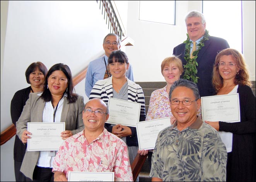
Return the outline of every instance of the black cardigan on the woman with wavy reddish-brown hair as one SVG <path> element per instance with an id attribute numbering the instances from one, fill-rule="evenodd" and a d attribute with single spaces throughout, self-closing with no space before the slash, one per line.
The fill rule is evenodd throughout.
<path id="1" fill-rule="evenodd" d="M 241 122 L 219 122 L 219 130 L 233 133 L 232 152 L 228 155 L 227 179 L 230 181 L 255 181 L 256 103 L 252 89 L 238 86 Z M 230 169 L 230 170 L 229 170 Z"/>

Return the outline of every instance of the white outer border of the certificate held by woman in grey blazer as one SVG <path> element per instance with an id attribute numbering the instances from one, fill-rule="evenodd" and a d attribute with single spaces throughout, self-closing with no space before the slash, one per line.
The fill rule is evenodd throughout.
<path id="1" fill-rule="evenodd" d="M 63 131 L 65 131 L 65 122 L 56 122 L 56 123 L 48 123 L 48 122 L 28 122 L 27 123 L 27 131 L 29 130 L 30 125 L 63 125 Z M 60 134 L 60 133 L 59 133 Z M 61 134 L 60 134 L 61 135 Z M 31 135 L 31 137 L 33 137 L 33 133 Z M 60 137 L 61 139 L 61 137 Z M 61 139 L 62 140 L 62 139 Z M 37 149 L 31 149 L 31 145 L 29 142 L 29 138 L 27 140 L 27 151 L 58 151 L 60 146 L 58 148 L 37 148 Z M 64 141 L 64 140 L 63 140 Z"/>

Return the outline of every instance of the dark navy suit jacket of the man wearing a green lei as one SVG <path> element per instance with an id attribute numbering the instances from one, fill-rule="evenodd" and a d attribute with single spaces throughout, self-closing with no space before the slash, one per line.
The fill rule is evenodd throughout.
<path id="1" fill-rule="evenodd" d="M 183 66 L 187 63 L 184 59 L 185 45 L 186 44 L 182 43 L 173 49 L 173 55 L 176 55 L 181 59 Z M 196 59 L 198 62 L 197 76 L 199 77 L 197 86 L 201 97 L 212 96 L 215 94 L 212 86 L 213 65 L 218 52 L 226 48 L 229 48 L 227 40 L 209 36 L 209 40 L 205 41 L 205 46 L 198 52 L 198 57 Z M 183 75 L 184 73 L 181 75 L 181 78 Z"/>

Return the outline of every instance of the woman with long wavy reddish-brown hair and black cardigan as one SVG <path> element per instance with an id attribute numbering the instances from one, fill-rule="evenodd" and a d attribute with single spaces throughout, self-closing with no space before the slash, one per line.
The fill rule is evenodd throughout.
<path id="1" fill-rule="evenodd" d="M 213 86 L 217 95 L 239 93 L 240 122 L 205 121 L 217 131 L 230 133 L 224 138 L 230 137 L 231 143 L 226 146 L 227 181 L 256 181 L 255 96 L 242 54 L 235 49 L 224 49 L 218 53 L 213 68 Z"/>

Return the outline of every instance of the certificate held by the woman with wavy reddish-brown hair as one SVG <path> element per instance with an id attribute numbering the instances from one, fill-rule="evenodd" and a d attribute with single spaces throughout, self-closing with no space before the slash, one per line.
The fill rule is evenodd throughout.
<path id="1" fill-rule="evenodd" d="M 203 121 L 240 122 L 239 94 L 201 97 Z"/>

